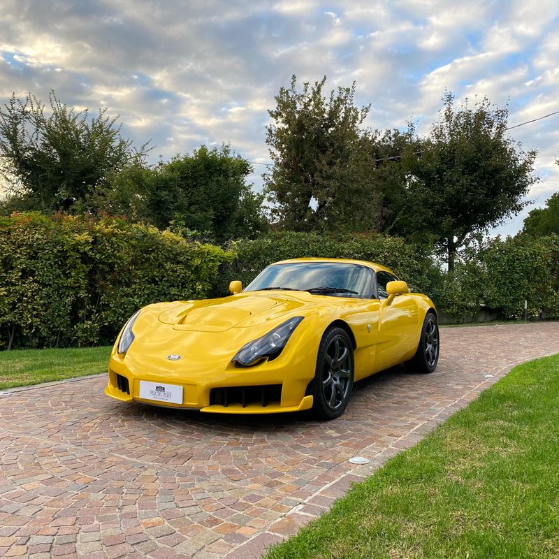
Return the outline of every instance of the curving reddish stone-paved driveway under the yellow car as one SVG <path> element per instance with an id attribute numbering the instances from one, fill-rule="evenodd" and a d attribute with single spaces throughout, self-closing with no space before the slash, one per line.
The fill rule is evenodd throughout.
<path id="1" fill-rule="evenodd" d="M 559 352 L 559 323 L 441 338 L 435 373 L 358 383 L 330 423 L 122 405 L 104 377 L 2 395 L 0 556 L 257 557 L 511 366 Z"/>

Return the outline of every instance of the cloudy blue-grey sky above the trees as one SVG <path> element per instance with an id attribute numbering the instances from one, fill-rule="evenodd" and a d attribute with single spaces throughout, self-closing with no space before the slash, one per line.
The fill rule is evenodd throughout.
<path id="1" fill-rule="evenodd" d="M 226 142 L 266 163 L 267 110 L 292 74 L 355 80 L 372 128 L 428 131 L 445 88 L 509 103 L 511 125 L 559 110 L 558 15 L 556 0 L 2 0 L 0 99 L 54 89 L 121 115 L 156 159 Z M 539 150 L 531 208 L 559 190 L 558 129 L 559 115 L 511 131 Z"/>

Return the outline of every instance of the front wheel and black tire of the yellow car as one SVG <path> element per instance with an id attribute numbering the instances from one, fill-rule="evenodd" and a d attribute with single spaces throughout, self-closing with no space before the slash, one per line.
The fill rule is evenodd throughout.
<path id="1" fill-rule="evenodd" d="M 347 407 L 354 386 L 354 349 L 343 328 L 331 326 L 322 336 L 314 379 L 309 384 L 312 413 L 336 419 Z"/>

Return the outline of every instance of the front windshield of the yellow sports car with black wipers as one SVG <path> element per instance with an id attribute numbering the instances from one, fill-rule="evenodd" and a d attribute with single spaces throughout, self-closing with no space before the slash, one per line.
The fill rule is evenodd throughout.
<path id="1" fill-rule="evenodd" d="M 343 262 L 289 262 L 264 268 L 245 291 L 296 289 L 317 295 L 370 297 L 371 273 Z"/>

